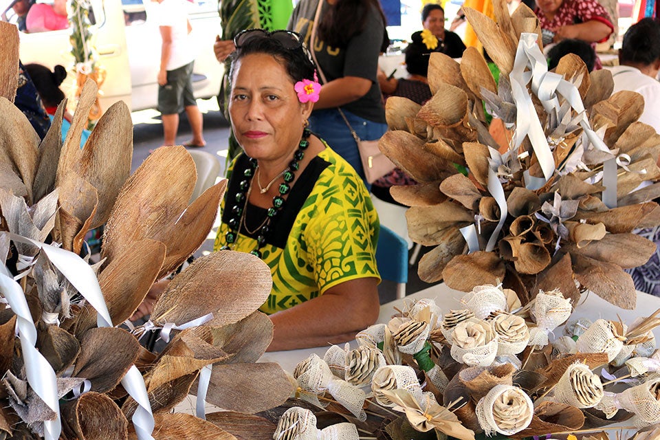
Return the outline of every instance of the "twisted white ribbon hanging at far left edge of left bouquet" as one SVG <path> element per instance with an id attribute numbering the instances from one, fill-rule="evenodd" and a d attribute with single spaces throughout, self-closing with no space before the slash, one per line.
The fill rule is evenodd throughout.
<path id="1" fill-rule="evenodd" d="M 57 380 L 55 372 L 48 361 L 34 347 L 36 344 L 36 327 L 28 307 L 28 300 L 19 283 L 14 281 L 11 272 L 0 263 L 0 292 L 17 316 L 16 328 L 21 340 L 23 364 L 28 384 L 36 395 L 55 412 L 54 420 L 43 421 L 43 434 L 46 440 L 58 440 L 62 432 L 60 421 L 60 406 L 57 397 Z"/>

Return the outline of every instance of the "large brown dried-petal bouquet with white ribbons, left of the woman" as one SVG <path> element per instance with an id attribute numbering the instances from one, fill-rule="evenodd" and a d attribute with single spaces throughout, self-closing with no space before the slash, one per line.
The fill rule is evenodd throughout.
<path id="1" fill-rule="evenodd" d="M 206 239 L 226 181 L 191 203 L 195 163 L 182 146 L 158 148 L 130 175 L 133 127 L 123 102 L 80 149 L 96 100 L 91 80 L 65 142 L 66 100 L 40 140 L 12 103 L 17 30 L 0 23 L 0 34 L 0 438 L 236 438 L 219 426 L 236 430 L 243 412 L 269 410 L 292 393 L 278 364 L 255 363 L 273 335 L 256 311 L 272 288 L 263 261 L 202 256 L 173 277 L 145 325 L 122 325 L 154 281 Z M 79 256 L 84 236 L 104 223 L 92 265 Z M 167 342 L 161 353 L 140 346 L 146 331 Z M 201 418 L 170 413 L 190 393 Z M 236 412 L 203 420 L 205 401 Z"/>

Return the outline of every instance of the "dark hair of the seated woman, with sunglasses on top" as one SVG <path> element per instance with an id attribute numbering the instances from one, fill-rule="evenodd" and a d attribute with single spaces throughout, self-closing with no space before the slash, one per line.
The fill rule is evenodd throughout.
<path id="1" fill-rule="evenodd" d="M 303 79 L 314 79 L 314 63 L 311 62 L 309 52 L 307 52 L 307 48 L 304 45 L 297 49 L 287 49 L 276 39 L 272 39 L 264 34 L 263 38 L 248 40 L 232 54 L 232 67 L 229 71 L 230 81 L 234 80 L 236 63 L 244 56 L 250 54 L 272 55 L 277 61 L 283 64 L 287 74 L 294 80 L 294 83 Z"/>

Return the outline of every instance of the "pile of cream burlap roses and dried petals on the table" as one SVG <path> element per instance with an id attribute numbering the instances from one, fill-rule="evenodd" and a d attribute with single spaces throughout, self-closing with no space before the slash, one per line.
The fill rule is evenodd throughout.
<path id="1" fill-rule="evenodd" d="M 273 438 L 565 438 L 660 423 L 660 357 L 648 349 L 660 310 L 630 326 L 571 320 L 562 292 L 522 307 L 501 285 L 477 286 L 461 304 L 444 313 L 434 300 L 404 300 L 387 324 L 358 333 L 357 347 L 300 362 Z M 342 415 L 329 427 L 327 410 Z"/>

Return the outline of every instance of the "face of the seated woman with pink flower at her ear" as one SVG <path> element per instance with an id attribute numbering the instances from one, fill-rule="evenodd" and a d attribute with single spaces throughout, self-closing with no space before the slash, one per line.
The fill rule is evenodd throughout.
<path id="1" fill-rule="evenodd" d="M 229 113 L 236 140 L 248 156 L 288 159 L 298 147 L 312 105 L 300 103 L 292 78 L 274 56 L 250 54 L 237 61 Z"/>

